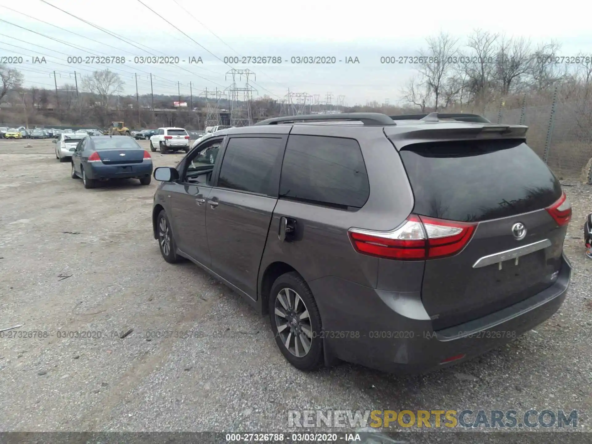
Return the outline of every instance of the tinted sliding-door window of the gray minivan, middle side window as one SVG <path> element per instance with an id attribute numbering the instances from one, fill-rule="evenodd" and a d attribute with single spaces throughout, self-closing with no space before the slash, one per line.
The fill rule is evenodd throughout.
<path id="1" fill-rule="evenodd" d="M 277 137 L 232 137 L 224 152 L 218 186 L 277 195 L 278 189 L 272 193 L 270 185 L 284 143 L 285 139 Z"/>

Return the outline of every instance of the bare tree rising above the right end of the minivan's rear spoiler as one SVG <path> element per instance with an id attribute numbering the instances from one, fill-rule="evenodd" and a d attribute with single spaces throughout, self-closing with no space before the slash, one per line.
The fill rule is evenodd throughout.
<path id="1" fill-rule="evenodd" d="M 510 94 L 510 86 L 520 76 L 527 75 L 532 53 L 530 42 L 524 38 L 501 36 L 496 54 L 496 78 L 500 82 L 501 94 Z"/>

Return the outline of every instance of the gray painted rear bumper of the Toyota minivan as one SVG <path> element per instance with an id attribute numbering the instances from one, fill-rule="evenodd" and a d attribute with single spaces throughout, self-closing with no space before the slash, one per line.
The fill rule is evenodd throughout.
<path id="1" fill-rule="evenodd" d="M 565 300 L 571 265 L 562 257 L 551 287 L 503 310 L 445 330 L 415 293 L 394 293 L 332 277 L 310 282 L 323 319 L 326 359 L 381 371 L 419 373 L 453 365 L 505 345 L 551 317 Z M 322 296 L 319 296 L 322 295 Z M 442 363 L 464 355 L 461 359 Z"/>

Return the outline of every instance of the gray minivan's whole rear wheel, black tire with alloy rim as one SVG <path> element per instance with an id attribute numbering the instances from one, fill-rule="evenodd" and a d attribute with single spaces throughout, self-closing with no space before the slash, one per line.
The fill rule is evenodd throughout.
<path id="1" fill-rule="evenodd" d="M 323 330 L 313 292 L 296 272 L 279 276 L 269 295 L 269 320 L 279 350 L 295 368 L 323 365 Z"/>

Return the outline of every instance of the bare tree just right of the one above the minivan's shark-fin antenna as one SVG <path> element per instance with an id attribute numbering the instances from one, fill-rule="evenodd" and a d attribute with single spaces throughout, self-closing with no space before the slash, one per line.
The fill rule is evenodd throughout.
<path id="1" fill-rule="evenodd" d="M 485 101 L 485 94 L 494 81 L 498 34 L 477 29 L 466 45 L 471 54 L 465 59 L 466 74 L 476 101 Z"/>

